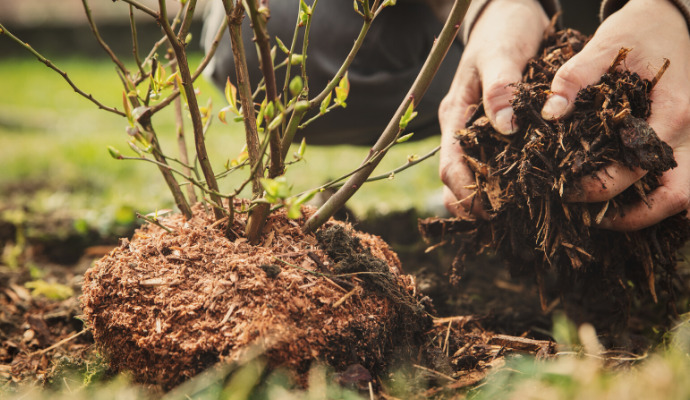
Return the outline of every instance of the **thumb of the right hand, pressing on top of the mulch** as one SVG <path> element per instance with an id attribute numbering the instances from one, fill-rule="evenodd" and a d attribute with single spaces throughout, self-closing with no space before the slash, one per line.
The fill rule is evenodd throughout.
<path id="1" fill-rule="evenodd" d="M 551 94 L 541 110 L 542 118 L 562 118 L 573 111 L 580 89 L 599 82 L 609 69 L 615 54 L 607 57 L 604 53 L 590 42 L 558 69 L 551 82 Z"/>

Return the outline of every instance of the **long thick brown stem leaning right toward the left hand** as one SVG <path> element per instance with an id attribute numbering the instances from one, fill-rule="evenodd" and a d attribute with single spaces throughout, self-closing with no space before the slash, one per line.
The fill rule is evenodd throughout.
<path id="1" fill-rule="evenodd" d="M 400 118 L 404 115 L 407 107 L 410 103 L 418 103 L 419 100 L 424 96 L 424 93 L 431 84 L 431 80 L 438 71 L 443 58 L 445 57 L 448 49 L 455 40 L 458 30 L 460 29 L 460 23 L 465 17 L 467 12 L 467 7 L 469 6 L 470 0 L 455 0 L 453 8 L 446 20 L 441 34 L 431 48 L 431 52 L 427 57 L 417 79 L 415 79 L 412 87 L 410 88 L 408 94 L 403 99 L 400 107 L 395 112 L 393 117 L 384 129 L 383 133 L 379 137 L 379 140 L 372 147 L 369 152 L 369 156 L 365 158 L 364 163 L 369 163 L 372 157 L 376 157 L 373 162 L 369 163 L 365 168 L 354 174 L 348 181 L 333 195 L 329 198 L 325 204 L 323 204 L 314 213 L 307 222 L 302 226 L 302 230 L 305 232 L 313 232 L 324 222 L 328 220 L 333 214 L 339 210 L 345 202 L 352 197 L 352 195 L 362 186 L 362 184 L 367 180 L 369 175 L 378 165 L 382 156 L 385 154 L 385 149 L 394 143 L 395 139 L 400 133 Z"/>

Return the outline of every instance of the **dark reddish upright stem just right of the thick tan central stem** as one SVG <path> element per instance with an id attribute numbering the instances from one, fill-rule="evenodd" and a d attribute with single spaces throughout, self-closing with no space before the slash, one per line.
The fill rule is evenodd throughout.
<path id="1" fill-rule="evenodd" d="M 268 30 L 266 30 L 266 17 L 259 12 L 257 0 L 247 0 L 247 13 L 252 20 L 252 28 L 254 29 L 254 40 L 259 47 L 259 60 L 261 63 L 261 72 L 266 84 L 266 103 L 275 102 L 278 100 L 278 89 L 276 87 L 276 75 L 273 69 L 273 60 L 271 59 L 271 44 L 269 43 Z M 266 126 L 268 129 L 268 122 Z M 280 128 L 273 129 L 268 132 L 270 158 L 271 161 L 268 167 L 269 178 L 275 178 L 282 175 L 284 166 L 283 160 L 280 157 Z"/>

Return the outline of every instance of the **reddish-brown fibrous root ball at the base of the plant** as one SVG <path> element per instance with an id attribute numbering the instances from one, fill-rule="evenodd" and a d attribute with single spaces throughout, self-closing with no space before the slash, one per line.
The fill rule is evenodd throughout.
<path id="1" fill-rule="evenodd" d="M 115 370 L 166 387 L 250 353 L 298 373 L 316 359 L 375 370 L 430 325 L 377 237 L 333 222 L 322 240 L 337 243 L 321 246 L 277 212 L 252 246 L 195 211 L 161 219 L 171 232 L 144 226 L 86 273 L 83 310 Z"/>

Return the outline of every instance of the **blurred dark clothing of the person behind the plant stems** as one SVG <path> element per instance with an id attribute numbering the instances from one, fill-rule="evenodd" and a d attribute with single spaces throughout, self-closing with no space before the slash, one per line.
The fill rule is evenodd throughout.
<path id="1" fill-rule="evenodd" d="M 206 19 L 203 40 L 207 45 L 212 41 L 223 15 L 222 7 L 214 7 L 215 10 L 211 10 Z M 298 2 L 274 0 L 270 3 L 270 9 L 269 33 L 272 38 L 279 37 L 289 47 L 297 19 Z M 307 49 L 307 76 L 312 97 L 338 71 L 361 26 L 362 17 L 353 10 L 352 1 L 322 0 L 314 8 Z M 373 144 L 407 94 L 441 28 L 441 22 L 421 2 L 398 1 L 396 6 L 383 10 L 373 22 L 349 69 L 350 95 L 347 108 L 336 108 L 322 116 L 304 131 L 299 131 L 295 140 L 306 136 L 309 144 Z M 303 33 L 304 28 L 300 28 L 295 53 L 301 53 Z M 242 34 L 250 79 L 254 86 L 261 79 L 261 71 L 252 41 L 254 34 L 246 17 Z M 461 52 L 462 44 L 457 40 L 418 105 L 418 116 L 408 126 L 407 132 L 414 132 L 414 138 L 440 133 L 438 105 L 448 92 Z M 285 54 L 278 49 L 276 64 L 284 58 Z M 209 67 L 213 82 L 219 87 L 225 86 L 228 76 L 232 82 L 236 81 L 230 37 L 227 33 Z M 299 70 L 293 67 L 291 76 L 298 73 Z M 285 70 L 277 70 L 276 78 L 278 88 L 282 90 Z"/>

